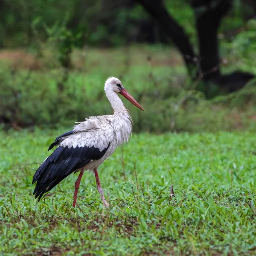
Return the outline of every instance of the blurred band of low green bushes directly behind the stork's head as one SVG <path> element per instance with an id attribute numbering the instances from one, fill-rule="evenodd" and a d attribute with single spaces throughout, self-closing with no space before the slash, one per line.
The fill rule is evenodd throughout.
<path id="1" fill-rule="evenodd" d="M 136 132 L 255 128 L 256 86 L 253 81 L 240 92 L 207 101 L 203 94 L 183 89 L 182 84 L 175 86 L 175 79 L 170 79 L 169 75 L 161 76 L 163 68 L 155 77 L 143 76 L 144 68 L 141 72 L 136 70 L 137 73 L 131 70 L 133 79 L 130 79 L 131 74 L 122 79 L 128 81 L 128 90 L 145 109 L 145 112 L 139 111 L 123 99 L 131 109 Z M 0 116 L 8 120 L 6 127 L 13 124 L 71 127 L 87 116 L 112 112 L 103 90 L 105 72 L 72 71 L 64 83 L 62 76 L 61 70 L 0 71 Z"/>

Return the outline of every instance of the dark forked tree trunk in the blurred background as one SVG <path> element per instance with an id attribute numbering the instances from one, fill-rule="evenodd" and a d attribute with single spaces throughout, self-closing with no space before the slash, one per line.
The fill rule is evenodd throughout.
<path id="1" fill-rule="evenodd" d="M 232 6 L 233 0 L 190 0 L 195 13 L 199 56 L 195 55 L 183 28 L 166 10 L 163 0 L 136 1 L 144 6 L 145 10 L 165 29 L 166 33 L 183 55 L 189 76 L 193 80 L 198 79 L 199 76 L 203 76 L 206 94 L 208 94 L 208 87 L 212 82 L 227 92 L 233 92 L 241 89 L 248 80 L 253 78 L 253 75 L 239 71 L 224 77 L 221 76 L 217 38 L 218 28 L 222 18 Z M 236 83 L 235 87 L 232 86 L 233 82 Z"/>

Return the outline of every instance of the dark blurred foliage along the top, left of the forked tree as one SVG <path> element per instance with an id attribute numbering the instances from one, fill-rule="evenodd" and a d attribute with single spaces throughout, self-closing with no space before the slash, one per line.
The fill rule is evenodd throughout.
<path id="1" fill-rule="evenodd" d="M 94 46 L 118 46 L 129 36 L 130 32 L 127 34 L 127 31 L 136 29 L 137 24 L 133 23 L 148 15 L 143 8 L 137 6 L 134 9 L 122 7 L 122 4 L 117 7 L 114 3 L 105 3 L 102 0 L 64 0 L 61 4 L 52 0 L 12 0 L 9 3 L 3 1 L 3 10 L 0 10 L 0 31 L 5 36 L 0 38 L 0 46 L 20 47 L 36 44 L 38 37 L 47 41 L 52 37 L 49 28 L 56 28 L 56 24 L 62 24 L 64 27 L 67 25 L 65 33 L 55 33 L 62 33 L 65 39 L 76 41 L 76 46 L 84 46 L 85 38 L 87 44 Z M 76 40 L 77 36 L 79 40 Z M 70 44 L 69 40 L 65 41 L 65 44 Z"/>

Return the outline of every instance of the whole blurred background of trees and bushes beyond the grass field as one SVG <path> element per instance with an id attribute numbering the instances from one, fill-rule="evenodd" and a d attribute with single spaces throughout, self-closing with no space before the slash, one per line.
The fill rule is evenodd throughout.
<path id="1" fill-rule="evenodd" d="M 0 0 L 0 125 L 110 114 L 104 82 L 143 106 L 134 131 L 255 130 L 255 0 Z"/>

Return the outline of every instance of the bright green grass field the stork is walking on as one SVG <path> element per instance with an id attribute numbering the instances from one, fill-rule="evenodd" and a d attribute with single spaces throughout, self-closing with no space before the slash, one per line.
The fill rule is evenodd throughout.
<path id="1" fill-rule="evenodd" d="M 99 169 L 111 208 L 86 172 L 74 209 L 77 174 L 40 203 L 32 196 L 62 131 L 0 133 L 1 255 L 255 255 L 254 133 L 134 134 L 124 171 L 120 148 Z"/>

